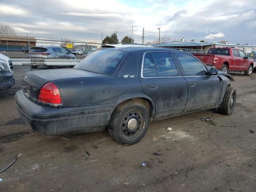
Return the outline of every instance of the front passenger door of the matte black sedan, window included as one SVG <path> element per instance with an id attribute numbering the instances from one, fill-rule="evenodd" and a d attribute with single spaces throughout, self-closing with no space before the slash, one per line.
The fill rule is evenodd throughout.
<path id="1" fill-rule="evenodd" d="M 188 101 L 184 112 L 216 106 L 221 91 L 218 76 L 208 75 L 206 66 L 191 55 L 181 52 L 175 55 L 188 85 Z"/>

